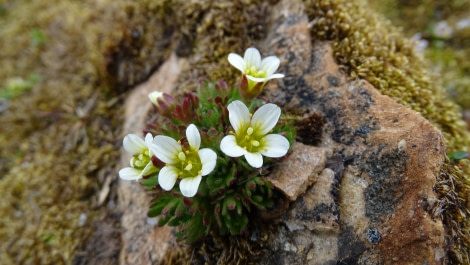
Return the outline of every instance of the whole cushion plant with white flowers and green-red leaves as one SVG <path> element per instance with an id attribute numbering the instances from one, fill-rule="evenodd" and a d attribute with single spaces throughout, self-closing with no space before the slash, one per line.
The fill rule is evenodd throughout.
<path id="1" fill-rule="evenodd" d="M 153 92 L 158 122 L 145 140 L 124 138 L 133 157 L 120 177 L 139 180 L 153 196 L 148 215 L 158 216 L 159 225 L 180 226 L 177 238 L 187 242 L 210 232 L 240 234 L 255 211 L 272 207 L 269 170 L 294 141 L 294 127 L 279 121 L 281 109 L 255 98 L 270 78 L 283 76 L 273 75 L 279 59 L 261 61 L 254 48 L 243 62 L 234 56 L 229 61 L 238 69 L 264 79 L 242 71 L 238 88 L 219 81 L 181 98 Z"/>

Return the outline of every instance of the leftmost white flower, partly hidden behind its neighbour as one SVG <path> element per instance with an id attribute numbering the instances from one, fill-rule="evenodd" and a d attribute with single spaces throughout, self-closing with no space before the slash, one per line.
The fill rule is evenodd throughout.
<path id="1" fill-rule="evenodd" d="M 124 150 L 132 154 L 131 167 L 119 170 L 119 177 L 125 180 L 138 180 L 142 176 L 156 172 L 158 169 L 152 164 L 153 152 L 150 150 L 152 134 L 145 135 L 145 141 L 135 134 L 124 137 Z"/>

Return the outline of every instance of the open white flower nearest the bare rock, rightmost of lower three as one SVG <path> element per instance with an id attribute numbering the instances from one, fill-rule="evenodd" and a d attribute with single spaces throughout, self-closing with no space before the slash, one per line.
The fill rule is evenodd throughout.
<path id="1" fill-rule="evenodd" d="M 237 100 L 227 107 L 234 135 L 225 136 L 220 149 L 230 157 L 244 155 L 252 167 L 263 166 L 263 157 L 281 157 L 289 150 L 289 141 L 279 134 L 268 134 L 276 126 L 281 109 L 275 104 L 261 106 L 253 117 L 243 102 Z"/>

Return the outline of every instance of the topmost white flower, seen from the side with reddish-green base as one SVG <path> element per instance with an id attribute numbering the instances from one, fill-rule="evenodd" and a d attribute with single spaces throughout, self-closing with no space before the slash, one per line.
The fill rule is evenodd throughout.
<path id="1" fill-rule="evenodd" d="M 284 77 L 283 74 L 274 73 L 279 68 L 279 58 L 268 56 L 261 60 L 261 55 L 256 48 L 248 48 L 243 58 L 238 54 L 230 53 L 228 61 L 242 72 L 240 93 L 248 98 L 261 93 L 267 81 Z"/>

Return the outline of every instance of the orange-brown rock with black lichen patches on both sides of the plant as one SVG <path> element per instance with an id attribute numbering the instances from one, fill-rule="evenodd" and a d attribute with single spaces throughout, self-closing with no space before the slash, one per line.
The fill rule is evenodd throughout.
<path id="1" fill-rule="evenodd" d="M 311 38 L 301 3 L 281 1 L 273 10 L 261 50 L 280 57 L 286 77 L 270 82 L 263 97 L 284 112 L 322 122 L 302 128 L 304 144 L 297 143 L 271 176 L 291 202 L 258 264 L 445 263 L 444 228 L 430 215 L 445 158 L 441 133 L 366 81 L 349 80 L 331 45 Z M 158 89 L 170 92 L 180 70 L 181 61 L 172 57 L 156 74 L 167 82 Z M 150 108 L 140 105 L 147 92 L 129 99 L 141 117 Z M 144 118 L 132 118 L 135 110 L 128 114 L 126 133 L 139 133 Z M 148 198 L 139 185 L 121 182 L 121 194 L 122 264 L 162 262 L 174 244 L 170 229 L 143 218 Z"/>

